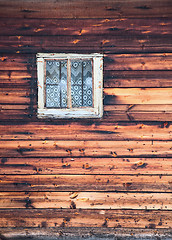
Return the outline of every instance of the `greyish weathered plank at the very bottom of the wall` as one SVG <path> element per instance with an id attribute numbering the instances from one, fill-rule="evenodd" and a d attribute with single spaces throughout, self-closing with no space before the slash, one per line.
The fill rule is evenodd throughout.
<path id="1" fill-rule="evenodd" d="M 161 224 L 161 223 L 160 223 Z M 111 237 L 116 237 L 121 240 L 128 240 L 131 236 L 134 235 L 136 239 L 140 238 L 153 238 L 159 237 L 162 238 L 171 238 L 171 231 L 168 228 L 159 228 L 156 225 L 146 225 L 145 228 L 120 228 L 120 224 L 118 227 L 110 228 L 110 227 L 44 227 L 40 225 L 38 228 L 29 227 L 29 228 L 0 228 L 1 237 L 6 237 L 6 240 L 22 240 L 22 236 L 26 238 L 32 238 L 36 240 L 39 239 L 40 236 L 44 238 L 44 240 L 50 240 L 50 238 L 58 239 L 62 235 L 66 238 L 88 238 L 93 237 L 98 240 L 99 238 L 105 239 Z M 156 230 L 153 228 L 155 227 Z"/>

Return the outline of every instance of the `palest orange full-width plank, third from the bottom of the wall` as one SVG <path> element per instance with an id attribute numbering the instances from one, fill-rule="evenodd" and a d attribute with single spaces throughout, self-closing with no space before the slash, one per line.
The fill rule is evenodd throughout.
<path id="1" fill-rule="evenodd" d="M 171 193 L 1 192 L 0 208 L 172 210 Z"/>

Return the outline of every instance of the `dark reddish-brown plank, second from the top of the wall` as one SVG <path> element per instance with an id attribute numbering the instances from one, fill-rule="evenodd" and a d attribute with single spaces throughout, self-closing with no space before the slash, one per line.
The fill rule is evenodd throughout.
<path id="1" fill-rule="evenodd" d="M 48 4 L 48 3 L 47 3 Z M 161 36 L 171 33 L 171 18 L 74 18 L 74 19 L 29 19 L 1 18 L 0 35 L 6 36 L 70 36 L 70 35 L 138 35 Z"/>

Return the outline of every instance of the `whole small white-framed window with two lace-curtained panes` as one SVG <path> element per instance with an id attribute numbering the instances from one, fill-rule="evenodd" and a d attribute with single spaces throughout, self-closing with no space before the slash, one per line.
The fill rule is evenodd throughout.
<path id="1" fill-rule="evenodd" d="M 100 118 L 102 54 L 37 54 L 38 117 Z"/>

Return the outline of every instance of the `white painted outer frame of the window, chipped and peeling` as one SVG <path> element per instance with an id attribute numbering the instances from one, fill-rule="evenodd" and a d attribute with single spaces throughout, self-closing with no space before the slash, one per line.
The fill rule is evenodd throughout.
<path id="1" fill-rule="evenodd" d="M 67 73 L 70 74 L 70 60 L 93 60 L 93 107 L 84 108 L 46 108 L 45 107 L 45 60 L 66 59 L 68 61 Z M 65 53 L 38 53 L 38 118 L 101 118 L 103 116 L 103 55 L 94 54 L 65 54 Z M 70 98 L 70 96 L 68 96 Z"/>

